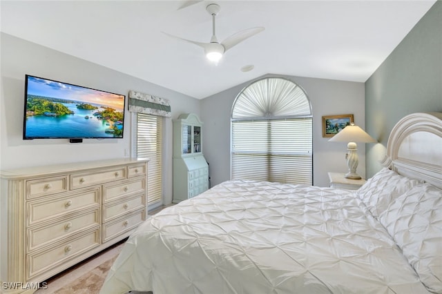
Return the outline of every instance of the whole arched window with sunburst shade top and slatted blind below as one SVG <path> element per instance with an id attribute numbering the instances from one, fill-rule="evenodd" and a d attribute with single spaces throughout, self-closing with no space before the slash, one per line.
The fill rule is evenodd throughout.
<path id="1" fill-rule="evenodd" d="M 231 179 L 312 184 L 311 106 L 293 81 L 271 77 L 244 88 L 231 127 Z"/>

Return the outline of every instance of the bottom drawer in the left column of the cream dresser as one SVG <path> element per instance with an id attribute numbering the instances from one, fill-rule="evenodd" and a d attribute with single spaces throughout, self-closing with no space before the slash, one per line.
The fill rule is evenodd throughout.
<path id="1" fill-rule="evenodd" d="M 46 248 L 46 250 L 27 255 L 27 280 L 46 271 L 50 271 L 52 268 L 62 266 L 70 259 L 99 246 L 99 239 L 100 230 L 97 228 L 95 231 L 90 231 L 84 235 L 73 237 L 58 246 L 52 246 Z"/>

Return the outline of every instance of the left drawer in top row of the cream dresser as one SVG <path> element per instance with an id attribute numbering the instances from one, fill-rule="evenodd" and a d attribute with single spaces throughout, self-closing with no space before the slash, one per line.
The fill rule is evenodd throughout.
<path id="1" fill-rule="evenodd" d="M 52 195 L 68 190 L 68 177 L 48 177 L 26 181 L 26 198 Z"/>

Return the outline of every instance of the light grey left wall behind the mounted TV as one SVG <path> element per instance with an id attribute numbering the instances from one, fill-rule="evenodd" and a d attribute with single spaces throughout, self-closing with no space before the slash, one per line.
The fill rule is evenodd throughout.
<path id="1" fill-rule="evenodd" d="M 125 75 L 122 72 L 1 33 L 0 169 L 60 164 L 125 156 L 131 150 L 131 115 L 126 111 L 124 139 L 23 140 L 25 75 L 46 77 L 70 84 L 128 95 L 137 90 L 171 100 L 172 118 L 182 112 L 200 113 L 200 100 Z M 155 68 L 146 68 L 155 70 Z M 172 122 L 166 119 L 165 202 L 172 199 Z"/>

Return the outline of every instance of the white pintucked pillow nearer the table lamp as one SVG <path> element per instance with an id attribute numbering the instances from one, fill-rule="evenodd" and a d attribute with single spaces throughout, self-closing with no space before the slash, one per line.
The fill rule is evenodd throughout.
<path id="1" fill-rule="evenodd" d="M 356 194 L 365 203 L 374 217 L 387 210 L 388 205 L 407 190 L 419 184 L 417 179 L 410 179 L 388 168 L 382 168 L 369 178 Z"/>

